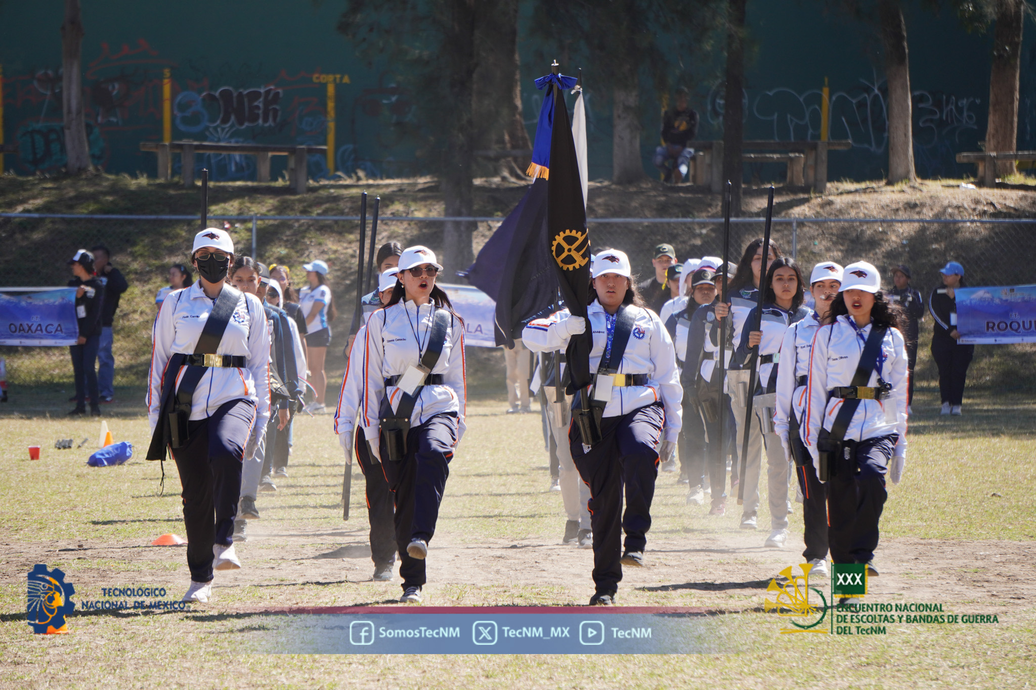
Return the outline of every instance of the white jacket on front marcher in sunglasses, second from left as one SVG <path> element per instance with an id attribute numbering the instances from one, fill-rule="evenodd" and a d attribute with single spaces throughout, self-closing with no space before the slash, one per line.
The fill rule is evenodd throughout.
<path id="1" fill-rule="evenodd" d="M 392 409 L 399 406 L 403 392 L 396 386 L 385 388 L 384 380 L 404 373 L 408 366 L 416 366 L 421 354 L 428 348 L 429 329 L 432 325 L 434 305 L 429 302 L 419 308 L 412 300 L 397 302 L 378 309 L 367 319 L 367 337 L 364 339 L 364 377 L 359 397 L 361 423 L 364 437 L 375 441 L 381 430 L 378 411 L 381 399 L 388 395 Z M 420 338 L 420 352 L 419 342 Z M 355 346 L 355 342 L 353 342 Z M 356 352 L 355 354 L 359 354 Z M 442 374 L 442 384 L 428 385 L 421 389 L 413 406 L 410 424 L 424 424 L 435 415 L 457 414 L 457 442 L 464 436 L 467 381 L 464 374 L 464 324 L 460 317 L 452 316 L 447 329 L 442 354 L 432 368 L 432 373 Z"/>

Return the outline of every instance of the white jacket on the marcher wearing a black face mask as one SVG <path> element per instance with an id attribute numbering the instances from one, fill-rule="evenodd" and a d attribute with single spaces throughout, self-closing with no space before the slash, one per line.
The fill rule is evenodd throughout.
<path id="1" fill-rule="evenodd" d="M 148 374 L 147 420 L 151 431 L 159 422 L 162 404 L 162 384 L 166 376 L 175 376 L 176 385 L 188 367 L 179 371 L 166 371 L 169 358 L 176 353 L 191 354 L 198 344 L 208 314 L 215 300 L 202 292 L 196 281 L 190 288 L 174 290 L 166 296 L 151 327 L 151 370 Z M 265 432 L 269 419 L 269 330 L 266 311 L 255 295 L 241 293 L 227 330 L 223 332 L 218 355 L 243 355 L 243 368 L 209 367 L 195 388 L 191 402 L 191 419 L 205 419 L 221 404 L 230 400 L 246 399 L 256 403 L 253 429 L 257 438 Z"/>

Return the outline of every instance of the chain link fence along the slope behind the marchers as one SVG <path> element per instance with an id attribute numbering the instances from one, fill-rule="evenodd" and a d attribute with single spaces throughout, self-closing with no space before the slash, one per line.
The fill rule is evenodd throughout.
<path id="1" fill-rule="evenodd" d="M 420 243 L 441 251 L 442 223 L 451 219 L 383 216 L 377 242 L 397 240 L 404 246 Z M 296 284 L 305 281 L 301 265 L 307 261 L 319 258 L 329 264 L 330 284 L 341 314 L 332 324 L 335 335 L 330 348 L 337 354 L 345 344 L 355 298 L 357 220 L 355 216 L 236 215 L 210 216 L 209 224 L 226 228 L 238 251 L 253 253 L 268 264 L 288 266 Z M 478 251 L 502 218 L 470 220 L 476 224 Z M 0 287 L 63 286 L 69 277 L 65 262 L 76 249 L 108 246 L 113 265 L 130 282 L 114 324 L 116 386 L 143 386 L 150 327 L 156 313 L 155 293 L 168 284 L 170 265 L 188 262 L 197 226 L 197 216 L 185 215 L 3 213 Z M 641 278 L 652 274 L 652 250 L 661 242 L 672 244 L 681 261 L 722 252 L 722 221 L 718 218 L 593 218 L 589 228 L 595 251 L 605 247 L 626 251 Z M 761 234 L 761 218 L 735 219 L 731 261 L 737 262 L 744 246 Z M 774 218 L 772 236 L 783 253 L 799 260 L 806 274 L 819 261 L 834 260 L 844 265 L 866 260 L 891 284 L 892 269 L 906 264 L 913 271 L 914 287 L 925 299 L 939 283 L 939 269 L 947 261 L 960 262 L 972 286 L 1036 282 L 1036 219 L 782 217 Z M 920 336 L 922 356 L 916 373 L 919 384 L 936 377 L 927 356 L 930 319 L 927 323 L 922 324 Z M 1032 346 L 978 350 L 972 384 L 1011 388 L 1036 384 L 1031 373 L 1036 372 Z M 495 355 L 473 354 L 476 361 L 469 361 L 472 366 L 478 366 L 480 359 L 495 366 Z M 71 367 L 64 348 L 4 347 L 0 348 L 0 357 L 6 359 L 12 386 L 45 386 L 54 388 L 54 392 L 71 386 Z M 328 356 L 328 380 L 334 379 L 339 360 Z M 337 373 L 340 376 L 340 371 Z M 501 383 L 499 387 L 502 390 Z"/>

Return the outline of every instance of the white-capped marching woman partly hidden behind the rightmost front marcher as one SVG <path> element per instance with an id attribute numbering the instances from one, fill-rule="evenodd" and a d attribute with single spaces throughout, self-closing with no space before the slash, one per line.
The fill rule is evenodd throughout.
<path id="1" fill-rule="evenodd" d="M 813 566 L 810 574 L 828 576 L 828 490 L 816 478 L 816 468 L 802 443 L 805 428 L 806 381 L 809 378 L 809 353 L 813 336 L 831 309 L 831 302 L 841 288 L 842 267 L 826 261 L 813 267 L 809 292 L 816 305 L 802 321 L 788 326 L 780 348 L 777 366 L 777 407 L 774 433 L 780 438 L 784 454 L 795 464 L 796 479 L 802 492 L 803 558 Z"/>

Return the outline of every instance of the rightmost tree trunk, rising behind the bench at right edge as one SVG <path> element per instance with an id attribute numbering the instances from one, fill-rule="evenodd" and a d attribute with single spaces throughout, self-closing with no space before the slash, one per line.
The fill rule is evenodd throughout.
<path id="1" fill-rule="evenodd" d="M 1014 151 L 1018 134 L 1018 74 L 1021 66 L 1021 30 L 1025 5 L 1021 0 L 999 0 L 997 29 L 992 39 L 992 67 L 989 70 L 989 124 L 985 130 L 986 151 Z M 997 174 L 1016 172 L 1013 160 L 997 161 Z"/>

